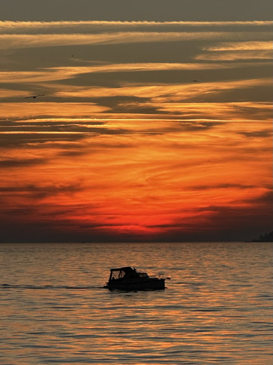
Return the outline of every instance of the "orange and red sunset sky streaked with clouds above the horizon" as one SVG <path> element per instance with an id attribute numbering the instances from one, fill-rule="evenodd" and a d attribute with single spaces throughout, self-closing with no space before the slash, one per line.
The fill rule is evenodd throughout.
<path id="1" fill-rule="evenodd" d="M 272 230 L 271 1 L 2 1 L 1 242 Z"/>

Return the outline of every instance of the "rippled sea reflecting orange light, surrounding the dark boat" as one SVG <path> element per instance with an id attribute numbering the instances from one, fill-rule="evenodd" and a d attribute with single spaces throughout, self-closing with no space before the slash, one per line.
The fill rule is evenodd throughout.
<path id="1" fill-rule="evenodd" d="M 272 243 L 1 243 L 0 364 L 271 365 Z M 171 280 L 103 288 L 110 268 Z"/>

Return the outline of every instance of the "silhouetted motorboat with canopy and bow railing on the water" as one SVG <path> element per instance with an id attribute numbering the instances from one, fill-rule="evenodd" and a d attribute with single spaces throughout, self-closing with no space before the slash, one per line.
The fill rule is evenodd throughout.
<path id="1" fill-rule="evenodd" d="M 110 277 L 104 288 L 126 291 L 159 290 L 165 289 L 165 280 L 170 280 L 170 278 L 164 277 L 164 274 L 149 276 L 145 272 L 138 272 L 135 268 L 132 269 L 131 266 L 125 266 L 110 269 Z"/>

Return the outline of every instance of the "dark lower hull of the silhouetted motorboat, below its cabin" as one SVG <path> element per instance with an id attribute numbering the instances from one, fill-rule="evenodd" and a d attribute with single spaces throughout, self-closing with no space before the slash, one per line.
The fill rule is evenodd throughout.
<path id="1" fill-rule="evenodd" d="M 119 289 L 126 291 L 135 290 L 160 290 L 165 289 L 165 279 L 155 279 L 149 281 L 136 281 L 136 282 L 109 282 L 104 288 L 107 289 Z"/>

